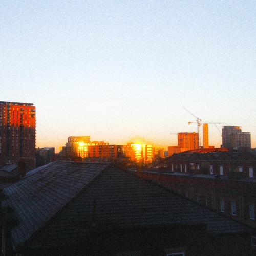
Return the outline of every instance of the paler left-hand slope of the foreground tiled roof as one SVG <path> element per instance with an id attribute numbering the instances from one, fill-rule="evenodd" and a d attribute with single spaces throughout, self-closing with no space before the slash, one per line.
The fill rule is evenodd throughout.
<path id="1" fill-rule="evenodd" d="M 14 248 L 22 245 L 108 164 L 57 162 L 4 189 L 3 207 L 15 208 Z"/>

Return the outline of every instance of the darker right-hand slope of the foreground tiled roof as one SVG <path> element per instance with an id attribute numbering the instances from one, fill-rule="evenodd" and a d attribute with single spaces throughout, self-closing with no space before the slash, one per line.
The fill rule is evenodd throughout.
<path id="1" fill-rule="evenodd" d="M 234 234 L 250 228 L 115 167 L 104 170 L 41 229 L 30 247 L 65 245 L 90 230 L 204 223 L 207 233 Z M 71 235 L 72 234 L 72 235 Z"/>

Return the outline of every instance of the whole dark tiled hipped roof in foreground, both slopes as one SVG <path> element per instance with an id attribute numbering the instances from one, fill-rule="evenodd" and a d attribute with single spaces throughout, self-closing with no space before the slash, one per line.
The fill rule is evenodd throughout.
<path id="1" fill-rule="evenodd" d="M 4 191 L 16 210 L 14 248 L 77 243 L 91 230 L 207 225 L 207 233 L 251 229 L 171 191 L 106 164 L 58 162 Z M 100 174 L 100 175 L 99 175 Z"/>

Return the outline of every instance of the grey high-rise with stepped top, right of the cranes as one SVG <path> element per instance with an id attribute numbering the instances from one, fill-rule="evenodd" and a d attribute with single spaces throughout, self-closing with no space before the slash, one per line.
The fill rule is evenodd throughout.
<path id="1" fill-rule="evenodd" d="M 251 148 L 251 134 L 242 132 L 240 126 L 222 127 L 222 147 L 227 148 Z"/>

